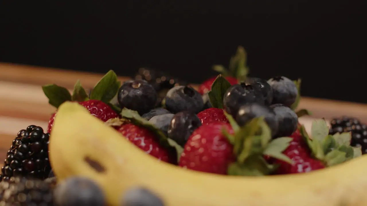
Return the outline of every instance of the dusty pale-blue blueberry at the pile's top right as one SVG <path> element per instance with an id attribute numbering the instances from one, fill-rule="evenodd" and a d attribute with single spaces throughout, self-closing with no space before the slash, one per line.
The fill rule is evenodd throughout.
<path id="1" fill-rule="evenodd" d="M 296 100 L 298 90 L 294 82 L 287 77 L 274 77 L 268 80 L 273 89 L 272 104 L 284 104 L 290 107 Z"/>

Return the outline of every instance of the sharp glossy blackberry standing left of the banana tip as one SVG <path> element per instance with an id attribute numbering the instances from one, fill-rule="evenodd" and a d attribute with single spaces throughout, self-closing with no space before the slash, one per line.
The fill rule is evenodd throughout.
<path id="1" fill-rule="evenodd" d="M 39 126 L 30 125 L 18 132 L 1 168 L 0 180 L 12 176 L 45 179 L 50 173 L 48 140 L 50 134 Z"/>

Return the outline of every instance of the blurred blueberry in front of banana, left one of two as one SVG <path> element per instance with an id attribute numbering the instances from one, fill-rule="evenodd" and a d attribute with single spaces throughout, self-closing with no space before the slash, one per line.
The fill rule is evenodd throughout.
<path id="1" fill-rule="evenodd" d="M 96 183 L 85 177 L 69 177 L 55 188 L 58 206 L 104 206 L 105 196 Z"/>

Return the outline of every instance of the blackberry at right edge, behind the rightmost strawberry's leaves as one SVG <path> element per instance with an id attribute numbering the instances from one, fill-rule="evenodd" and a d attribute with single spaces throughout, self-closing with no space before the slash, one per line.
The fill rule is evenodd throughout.
<path id="1" fill-rule="evenodd" d="M 367 125 L 362 124 L 359 119 L 353 117 L 339 117 L 330 121 L 331 128 L 329 133 L 334 135 L 339 132 L 351 132 L 352 140 L 350 145 L 361 147 L 362 154 L 367 154 Z"/>

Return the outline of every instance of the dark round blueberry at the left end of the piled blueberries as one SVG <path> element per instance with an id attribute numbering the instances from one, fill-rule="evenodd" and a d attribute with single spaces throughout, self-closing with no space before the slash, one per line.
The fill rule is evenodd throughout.
<path id="1" fill-rule="evenodd" d="M 117 100 L 121 108 L 135 110 L 142 115 L 155 107 L 157 92 L 147 81 L 130 80 L 121 85 Z"/>

